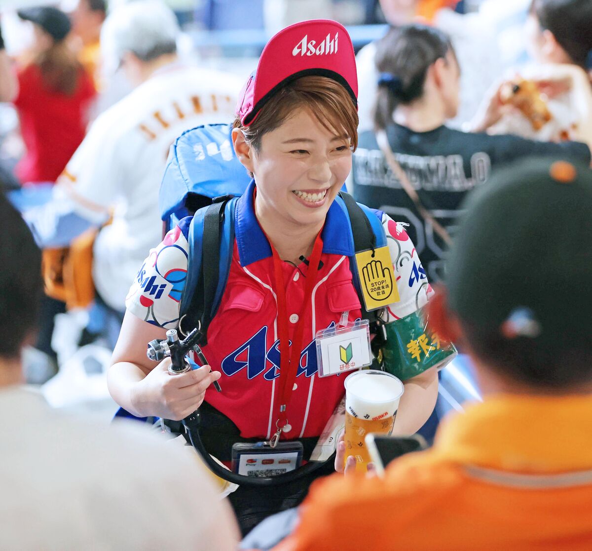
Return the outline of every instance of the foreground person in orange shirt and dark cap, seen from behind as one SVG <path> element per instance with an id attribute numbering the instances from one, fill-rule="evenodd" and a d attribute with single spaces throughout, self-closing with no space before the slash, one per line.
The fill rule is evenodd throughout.
<path id="1" fill-rule="evenodd" d="M 317 482 L 276 551 L 592 549 L 592 171 L 522 161 L 465 207 L 431 320 L 484 401 L 384 479 Z"/>

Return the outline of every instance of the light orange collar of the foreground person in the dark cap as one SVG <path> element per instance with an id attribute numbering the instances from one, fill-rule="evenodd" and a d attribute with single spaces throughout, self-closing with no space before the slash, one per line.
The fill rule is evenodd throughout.
<path id="1" fill-rule="evenodd" d="M 514 473 L 592 469 L 592 396 L 499 395 L 439 428 L 433 452 Z"/>

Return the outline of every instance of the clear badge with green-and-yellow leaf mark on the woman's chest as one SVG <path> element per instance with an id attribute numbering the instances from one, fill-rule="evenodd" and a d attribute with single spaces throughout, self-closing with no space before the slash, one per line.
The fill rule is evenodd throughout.
<path id="1" fill-rule="evenodd" d="M 319 377 L 345 373 L 372 363 L 368 320 L 344 322 L 347 314 L 343 314 L 337 327 L 317 332 L 315 342 Z"/>

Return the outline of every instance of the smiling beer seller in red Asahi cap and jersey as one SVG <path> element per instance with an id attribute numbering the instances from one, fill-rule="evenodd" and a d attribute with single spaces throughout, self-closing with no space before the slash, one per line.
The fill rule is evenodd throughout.
<path id="1" fill-rule="evenodd" d="M 429 417 L 440 361 L 433 358 L 445 361 L 452 353 L 439 355 L 445 347 L 420 316 L 431 288 L 403 226 L 349 196 L 338 197 L 358 143 L 357 91 L 352 43 L 334 21 L 292 25 L 263 50 L 240 95 L 232 132 L 236 156 L 253 180 L 229 203 L 231 261 L 202 347 L 207 366 L 170 377 L 169 359 L 156 367 L 146 359 L 147 342 L 178 328 L 185 283 L 176 275 L 176 294 L 155 297 L 150 290 L 170 288 L 169 274 L 189 269 L 188 257 L 201 239 L 195 236 L 204 233 L 203 212 L 182 220 L 151 251 L 139 281 L 153 283 L 136 283 L 128 294 L 108 375 L 115 401 L 138 417 L 183 419 L 200 408 L 202 441 L 221 461 L 230 464 L 238 444 L 266 450 L 258 476 L 286 472 L 286 458 L 278 456 L 282 445 L 300 448 L 301 459 L 310 460 L 334 412 L 339 422 L 345 389 L 337 373 L 368 365 L 359 359 L 368 358 L 370 348 L 368 331 L 356 325 L 361 318 L 372 319 L 372 332 L 387 324 L 391 335 L 389 353 L 379 357 L 405 386 L 394 422 L 398 434 L 414 433 Z M 356 235 L 350 212 L 363 220 Z M 364 237 L 371 245 L 355 246 Z M 360 277 L 372 289 L 371 299 Z M 337 324 L 350 358 L 343 364 L 327 348 L 319 362 L 319 335 Z M 329 347 L 328 338 L 323 346 Z M 218 379 L 219 393 L 210 389 Z M 334 450 L 336 440 L 334 435 L 320 447 Z M 343 472 L 345 443 L 336 451 L 335 466 Z M 256 473 L 243 467 L 251 468 L 236 464 L 235 472 Z M 294 482 L 240 486 L 230 501 L 243 533 L 272 512 L 297 505 L 312 480 L 332 470 L 327 462 Z"/>

